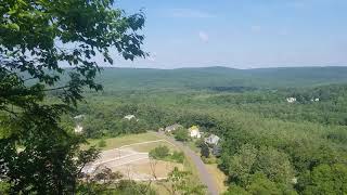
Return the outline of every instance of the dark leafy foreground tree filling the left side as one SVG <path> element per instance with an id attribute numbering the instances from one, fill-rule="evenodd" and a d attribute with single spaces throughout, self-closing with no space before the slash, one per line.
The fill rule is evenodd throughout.
<path id="1" fill-rule="evenodd" d="M 76 192 L 98 151 L 81 151 L 85 139 L 62 127 L 61 116 L 85 88 L 102 89 L 100 58 L 146 56 L 138 32 L 144 21 L 113 0 L 0 2 L 0 179 L 11 193 Z M 52 93 L 59 99 L 47 101 Z"/>

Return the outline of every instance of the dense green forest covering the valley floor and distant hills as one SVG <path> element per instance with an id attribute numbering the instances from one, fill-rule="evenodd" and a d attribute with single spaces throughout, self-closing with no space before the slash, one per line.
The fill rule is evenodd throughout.
<path id="1" fill-rule="evenodd" d="M 226 69 L 108 69 L 104 91 L 87 93 L 74 115 L 83 115 L 87 138 L 176 122 L 218 134 L 230 194 L 346 193 L 347 68 Z M 64 122 L 73 127 L 73 117 Z"/>

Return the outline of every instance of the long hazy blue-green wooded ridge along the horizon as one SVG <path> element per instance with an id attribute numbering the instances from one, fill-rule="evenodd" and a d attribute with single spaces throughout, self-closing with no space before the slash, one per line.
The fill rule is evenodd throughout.
<path id="1" fill-rule="evenodd" d="M 312 87 L 347 82 L 347 67 L 281 67 L 235 69 L 227 67 L 150 69 L 111 68 L 102 72 L 106 91 L 136 89 L 211 89 Z"/>

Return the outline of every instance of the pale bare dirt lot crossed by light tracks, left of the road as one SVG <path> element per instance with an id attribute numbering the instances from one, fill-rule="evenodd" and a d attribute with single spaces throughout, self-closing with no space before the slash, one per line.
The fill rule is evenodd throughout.
<path id="1" fill-rule="evenodd" d="M 159 144 L 168 143 L 157 140 L 103 151 L 98 160 L 85 167 L 83 172 L 92 174 L 106 167 L 137 181 L 166 179 L 174 167 L 182 168 L 182 165 L 150 159 L 147 151 Z"/>

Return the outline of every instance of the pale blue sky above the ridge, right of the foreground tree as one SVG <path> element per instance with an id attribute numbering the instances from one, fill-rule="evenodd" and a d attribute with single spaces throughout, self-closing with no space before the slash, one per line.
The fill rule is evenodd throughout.
<path id="1" fill-rule="evenodd" d="M 347 65 L 347 0 L 116 0 L 145 13 L 145 60 L 119 67 Z"/>

